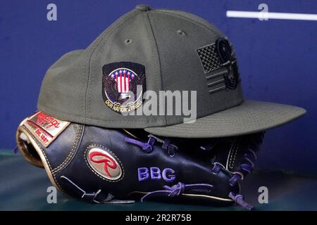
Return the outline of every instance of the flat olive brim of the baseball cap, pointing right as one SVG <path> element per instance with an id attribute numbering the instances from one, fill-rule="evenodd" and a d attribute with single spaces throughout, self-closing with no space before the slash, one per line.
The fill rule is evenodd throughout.
<path id="1" fill-rule="evenodd" d="M 194 123 L 148 127 L 145 130 L 159 136 L 182 138 L 237 136 L 278 127 L 305 113 L 304 108 L 292 105 L 244 101 L 233 108 L 201 117 Z"/>

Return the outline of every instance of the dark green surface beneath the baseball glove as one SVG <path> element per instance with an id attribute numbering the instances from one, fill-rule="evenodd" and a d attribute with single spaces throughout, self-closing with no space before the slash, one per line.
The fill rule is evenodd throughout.
<path id="1" fill-rule="evenodd" d="M 243 210 L 237 205 L 181 205 L 171 203 L 89 204 L 62 193 L 57 203 L 46 201 L 51 186 L 44 169 L 30 165 L 11 150 L 0 150 L 0 210 Z M 268 204 L 259 204 L 260 186 L 268 188 Z M 317 210 L 317 179 L 283 172 L 255 171 L 242 184 L 245 200 L 255 210 Z"/>

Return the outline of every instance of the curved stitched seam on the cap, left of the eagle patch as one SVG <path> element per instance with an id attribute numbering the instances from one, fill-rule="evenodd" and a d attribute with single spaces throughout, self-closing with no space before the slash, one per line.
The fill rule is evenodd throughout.
<path id="1" fill-rule="evenodd" d="M 91 96 L 89 96 L 89 98 L 88 98 L 87 95 L 88 95 L 90 75 L 91 75 L 92 58 L 94 56 L 94 59 L 95 59 L 97 53 L 99 52 L 97 50 L 97 47 L 102 43 L 102 41 L 104 41 L 104 42 L 101 44 L 101 48 L 104 46 L 104 44 L 106 43 L 106 39 L 104 40 L 104 37 L 106 36 L 106 34 L 112 34 L 114 32 L 114 30 L 118 29 L 118 27 L 121 27 L 125 22 L 127 22 L 131 18 L 134 18 L 136 15 L 138 15 L 138 12 L 137 11 L 132 11 L 131 13 L 128 13 L 125 16 L 119 18 L 115 23 L 113 23 L 110 27 L 108 27 L 108 29 L 106 29 L 106 31 L 103 34 L 101 34 L 99 41 L 96 43 L 96 46 L 94 46 L 94 49 L 92 49 L 92 53 L 91 53 L 91 55 L 89 57 L 88 79 L 87 79 L 87 86 L 86 86 L 85 100 L 84 100 L 85 101 L 85 122 L 87 122 L 87 119 L 89 119 L 87 117 L 87 115 L 90 114 L 90 105 L 89 104 L 90 104 Z M 129 16 L 130 16 L 130 18 L 128 18 Z M 124 19 L 126 19 L 126 20 L 124 20 Z M 87 103 L 87 100 L 89 101 L 88 103 Z"/>

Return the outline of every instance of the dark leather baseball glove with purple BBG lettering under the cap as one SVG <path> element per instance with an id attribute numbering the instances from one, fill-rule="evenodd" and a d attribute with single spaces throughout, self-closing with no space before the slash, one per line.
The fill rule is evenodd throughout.
<path id="1" fill-rule="evenodd" d="M 18 148 L 58 190 L 91 203 L 163 200 L 251 210 L 240 181 L 254 169 L 263 133 L 176 139 L 143 129 L 106 129 L 37 112 L 21 122 Z M 165 197 L 165 198 L 162 198 Z"/>

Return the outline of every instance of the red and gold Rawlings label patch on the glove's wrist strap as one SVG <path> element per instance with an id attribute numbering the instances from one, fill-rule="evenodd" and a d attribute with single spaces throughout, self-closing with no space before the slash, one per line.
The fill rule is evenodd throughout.
<path id="1" fill-rule="evenodd" d="M 49 146 L 69 124 L 70 122 L 58 120 L 42 112 L 37 112 L 23 121 L 27 130 L 45 147 Z"/>

